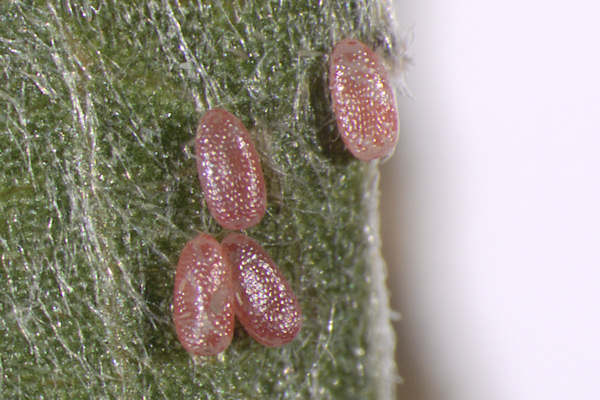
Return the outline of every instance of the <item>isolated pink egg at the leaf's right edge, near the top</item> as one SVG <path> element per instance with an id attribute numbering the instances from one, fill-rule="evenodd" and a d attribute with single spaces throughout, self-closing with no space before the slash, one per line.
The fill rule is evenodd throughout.
<path id="1" fill-rule="evenodd" d="M 398 141 L 394 92 L 379 57 L 355 39 L 338 42 L 331 54 L 329 90 L 337 128 L 359 160 L 390 154 Z"/>

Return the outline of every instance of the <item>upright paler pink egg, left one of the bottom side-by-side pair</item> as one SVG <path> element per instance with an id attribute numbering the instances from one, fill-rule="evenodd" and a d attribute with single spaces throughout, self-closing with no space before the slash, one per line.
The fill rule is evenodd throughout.
<path id="1" fill-rule="evenodd" d="M 201 233 L 183 248 L 175 272 L 173 322 L 182 346 L 212 356 L 233 337 L 231 267 L 221 245 Z"/>

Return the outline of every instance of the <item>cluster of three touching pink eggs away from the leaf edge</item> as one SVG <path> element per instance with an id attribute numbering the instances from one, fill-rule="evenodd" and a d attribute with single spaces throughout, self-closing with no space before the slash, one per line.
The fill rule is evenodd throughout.
<path id="1" fill-rule="evenodd" d="M 258 224 L 266 210 L 265 181 L 242 122 L 222 109 L 208 111 L 198 126 L 195 153 L 213 218 L 232 230 Z M 218 243 L 200 233 L 184 247 L 175 272 L 179 341 L 191 354 L 218 354 L 231 343 L 234 316 L 266 346 L 289 342 L 302 325 L 294 292 L 255 240 L 230 233 Z"/>

